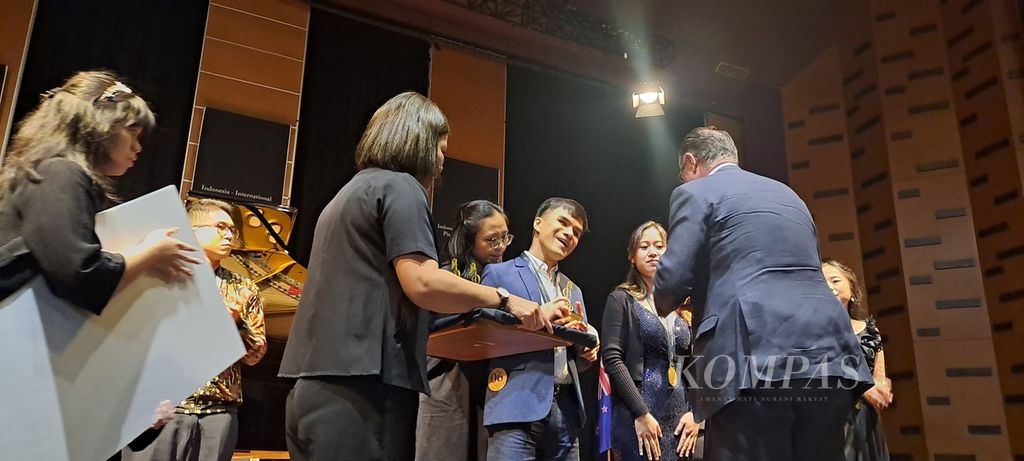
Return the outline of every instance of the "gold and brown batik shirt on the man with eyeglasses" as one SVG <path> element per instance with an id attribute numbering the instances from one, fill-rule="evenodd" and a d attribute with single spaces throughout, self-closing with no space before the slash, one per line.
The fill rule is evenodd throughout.
<path id="1" fill-rule="evenodd" d="M 263 300 L 259 288 L 249 278 L 223 267 L 214 270 L 217 286 L 225 306 L 241 312 L 239 335 L 246 346 L 246 354 L 200 387 L 196 393 L 181 401 L 177 413 L 193 415 L 224 413 L 242 406 L 242 365 L 256 365 L 266 353 L 266 327 L 263 324 Z"/>

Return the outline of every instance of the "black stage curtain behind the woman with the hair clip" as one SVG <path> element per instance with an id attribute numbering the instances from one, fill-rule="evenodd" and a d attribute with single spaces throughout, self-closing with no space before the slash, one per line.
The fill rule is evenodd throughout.
<path id="1" fill-rule="evenodd" d="M 208 7 L 203 0 L 40 0 L 15 122 L 73 73 L 113 71 L 150 101 L 158 124 L 118 181 L 119 195 L 133 199 L 179 184 Z"/>

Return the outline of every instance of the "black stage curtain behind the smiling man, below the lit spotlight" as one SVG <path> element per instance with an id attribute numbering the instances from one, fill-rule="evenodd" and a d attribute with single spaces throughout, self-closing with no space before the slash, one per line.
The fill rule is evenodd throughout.
<path id="1" fill-rule="evenodd" d="M 508 67 L 505 210 L 519 237 L 506 259 L 529 247 L 534 214 L 545 199 L 583 204 L 590 232 L 559 268 L 583 289 L 598 329 L 608 293 L 629 268 L 630 233 L 647 219 L 667 219 L 669 196 L 679 185 L 679 143 L 702 124 L 699 111 L 671 104 L 665 117 L 636 119 L 631 91 Z M 582 379 L 589 422 L 580 436 L 581 459 L 594 459 L 596 370 Z"/>

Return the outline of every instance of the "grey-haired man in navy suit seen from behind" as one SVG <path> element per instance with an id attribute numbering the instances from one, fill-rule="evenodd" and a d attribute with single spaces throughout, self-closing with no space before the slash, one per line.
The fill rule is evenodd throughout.
<path id="1" fill-rule="evenodd" d="M 663 316 L 694 307 L 690 401 L 705 459 L 839 460 L 843 423 L 871 384 L 850 320 L 821 275 L 817 232 L 797 195 L 743 171 L 725 131 L 679 151 L 669 249 L 654 279 Z"/>

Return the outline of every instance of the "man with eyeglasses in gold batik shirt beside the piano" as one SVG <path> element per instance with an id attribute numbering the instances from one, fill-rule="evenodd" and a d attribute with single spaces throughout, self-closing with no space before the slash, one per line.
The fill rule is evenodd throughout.
<path id="1" fill-rule="evenodd" d="M 231 254 L 239 229 L 227 203 L 201 199 L 185 206 L 196 238 L 217 278 L 217 286 L 246 354 L 178 404 L 174 419 L 141 450 L 126 448 L 125 461 L 229 461 L 239 436 L 238 410 L 242 406 L 242 365 L 256 365 L 266 353 L 263 300 L 251 280 L 220 265 Z M 137 450 L 137 451 L 136 451 Z"/>

